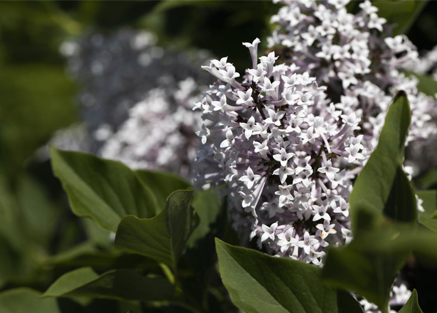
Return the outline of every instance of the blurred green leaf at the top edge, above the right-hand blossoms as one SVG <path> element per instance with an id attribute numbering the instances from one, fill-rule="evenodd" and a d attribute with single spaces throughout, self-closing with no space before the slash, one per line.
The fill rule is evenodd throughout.
<path id="1" fill-rule="evenodd" d="M 404 34 L 413 24 L 420 11 L 428 0 L 376 0 L 378 15 L 387 19 L 389 24 L 394 24 L 393 36 Z"/>

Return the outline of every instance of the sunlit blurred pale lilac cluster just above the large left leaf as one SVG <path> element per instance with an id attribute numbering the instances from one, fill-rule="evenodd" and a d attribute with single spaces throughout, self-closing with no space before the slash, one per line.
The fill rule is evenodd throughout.
<path id="1" fill-rule="evenodd" d="M 175 90 L 150 90 L 129 110 L 118 131 L 108 136 L 101 156 L 131 168 L 164 169 L 189 177 L 199 147 L 195 131 L 201 117 L 192 111 L 199 94 L 192 78 L 179 82 Z"/>

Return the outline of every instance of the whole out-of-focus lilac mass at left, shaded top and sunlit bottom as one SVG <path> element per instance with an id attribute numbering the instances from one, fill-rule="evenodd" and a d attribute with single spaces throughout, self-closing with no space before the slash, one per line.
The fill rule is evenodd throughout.
<path id="1" fill-rule="evenodd" d="M 200 124 L 191 108 L 201 94 L 197 82 L 207 82 L 199 71 L 206 51 L 163 48 L 150 32 L 124 29 L 91 32 L 61 52 L 81 85 L 85 151 L 189 176 Z"/>

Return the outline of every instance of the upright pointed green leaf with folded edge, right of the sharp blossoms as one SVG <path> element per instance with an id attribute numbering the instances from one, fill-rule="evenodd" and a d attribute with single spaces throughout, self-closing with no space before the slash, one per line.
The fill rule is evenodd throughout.
<path id="1" fill-rule="evenodd" d="M 402 170 L 411 111 L 404 91 L 398 91 L 387 112 L 379 143 L 356 179 L 349 198 L 352 228 L 371 226 L 371 219 L 416 220 L 415 197 Z"/>

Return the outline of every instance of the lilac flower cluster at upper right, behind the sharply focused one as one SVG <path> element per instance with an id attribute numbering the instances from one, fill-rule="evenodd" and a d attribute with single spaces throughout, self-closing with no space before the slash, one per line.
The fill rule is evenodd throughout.
<path id="1" fill-rule="evenodd" d="M 366 148 L 377 144 L 395 89 L 407 92 L 413 112 L 407 141 L 435 133 L 436 99 L 418 92 L 417 80 L 400 72 L 417 58 L 416 48 L 406 36 L 388 36 L 391 26 L 369 0 L 356 15 L 346 11 L 348 0 L 276 2 L 285 5 L 272 17 L 276 28 L 269 45 L 281 51 L 286 64 L 326 86 L 336 109 L 361 118 Z"/>

